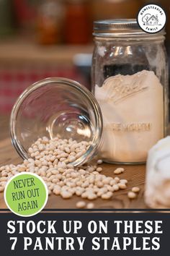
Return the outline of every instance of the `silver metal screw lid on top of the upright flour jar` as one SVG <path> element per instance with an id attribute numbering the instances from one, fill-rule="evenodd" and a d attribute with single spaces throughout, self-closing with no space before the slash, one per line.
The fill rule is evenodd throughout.
<path id="1" fill-rule="evenodd" d="M 119 19 L 119 20 L 98 20 L 94 21 L 94 36 L 117 36 L 117 35 L 149 35 L 143 31 L 136 19 Z M 164 35 L 164 30 L 156 35 Z M 156 36 L 155 35 L 155 36 Z"/>

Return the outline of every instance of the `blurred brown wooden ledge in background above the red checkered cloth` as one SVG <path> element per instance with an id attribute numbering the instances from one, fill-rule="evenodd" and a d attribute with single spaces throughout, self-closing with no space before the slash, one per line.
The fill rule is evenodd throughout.
<path id="1" fill-rule="evenodd" d="M 1 66 L 16 67 L 16 65 L 27 66 L 38 64 L 41 66 L 73 65 L 73 57 L 76 54 L 92 54 L 94 45 L 52 45 L 40 46 L 35 40 L 29 38 L 12 38 L 12 40 L 1 40 L 0 63 Z M 54 67 L 55 67 L 54 66 Z"/>

